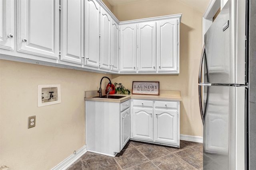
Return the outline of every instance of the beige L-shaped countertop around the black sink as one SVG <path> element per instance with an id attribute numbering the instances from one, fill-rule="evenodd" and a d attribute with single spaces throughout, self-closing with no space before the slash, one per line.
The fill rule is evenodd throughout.
<path id="1" fill-rule="evenodd" d="M 102 95 L 106 95 L 105 90 L 102 90 Z M 170 101 L 182 101 L 180 97 L 180 91 L 166 91 L 160 90 L 160 95 L 144 95 L 144 94 L 112 94 L 110 96 L 125 96 L 120 99 L 106 99 L 106 98 L 93 98 L 99 96 L 97 90 L 84 92 L 84 100 L 98 101 L 98 102 L 115 102 L 122 103 L 129 99 L 146 99 L 146 100 L 170 100 Z"/>

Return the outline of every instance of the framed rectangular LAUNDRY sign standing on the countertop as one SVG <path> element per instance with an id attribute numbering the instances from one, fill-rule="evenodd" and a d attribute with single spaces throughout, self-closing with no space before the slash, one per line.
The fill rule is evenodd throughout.
<path id="1" fill-rule="evenodd" d="M 132 94 L 159 95 L 159 82 L 132 82 Z"/>

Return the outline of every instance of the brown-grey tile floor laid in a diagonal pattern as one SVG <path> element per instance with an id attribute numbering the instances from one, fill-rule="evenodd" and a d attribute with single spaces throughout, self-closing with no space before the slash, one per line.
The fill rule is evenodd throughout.
<path id="1" fill-rule="evenodd" d="M 129 141 L 116 157 L 86 152 L 67 170 L 203 170 L 203 145 L 180 141 L 180 149 Z"/>

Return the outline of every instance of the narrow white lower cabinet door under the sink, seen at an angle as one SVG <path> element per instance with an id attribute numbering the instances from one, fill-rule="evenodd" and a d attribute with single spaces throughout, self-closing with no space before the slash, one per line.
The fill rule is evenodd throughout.
<path id="1" fill-rule="evenodd" d="M 130 108 L 121 113 L 121 149 L 130 139 Z"/>

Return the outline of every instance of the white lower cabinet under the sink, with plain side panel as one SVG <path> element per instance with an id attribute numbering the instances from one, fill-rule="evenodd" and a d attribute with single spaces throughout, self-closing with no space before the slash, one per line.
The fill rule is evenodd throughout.
<path id="1" fill-rule="evenodd" d="M 130 100 L 85 101 L 86 149 L 115 156 L 130 139 Z"/>

